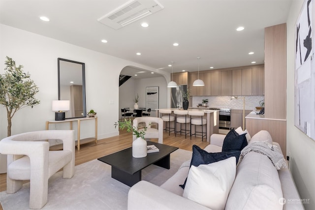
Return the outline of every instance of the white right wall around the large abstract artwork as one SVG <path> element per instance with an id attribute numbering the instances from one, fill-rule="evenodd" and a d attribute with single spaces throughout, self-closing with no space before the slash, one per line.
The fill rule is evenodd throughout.
<path id="1" fill-rule="evenodd" d="M 314 3 L 315 2 L 313 2 L 313 4 Z M 293 0 L 291 11 L 287 19 L 286 150 L 287 155 L 290 156 L 290 170 L 300 193 L 300 197 L 302 199 L 310 199 L 310 204 L 304 204 L 304 207 L 306 210 L 314 210 L 315 164 L 313 161 L 315 159 L 315 141 L 294 126 L 295 24 L 302 4 L 303 0 Z M 315 11 L 313 11 L 313 23 L 315 22 L 314 17 Z M 315 25 L 313 25 L 313 29 L 314 28 Z"/>

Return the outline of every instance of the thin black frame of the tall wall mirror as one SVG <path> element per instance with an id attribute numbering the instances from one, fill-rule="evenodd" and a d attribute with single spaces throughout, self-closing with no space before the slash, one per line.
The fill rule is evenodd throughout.
<path id="1" fill-rule="evenodd" d="M 87 117 L 87 111 L 86 111 L 86 97 L 85 97 L 85 63 L 83 62 L 78 62 L 74 60 L 67 60 L 67 59 L 62 59 L 58 58 L 58 100 L 60 99 L 60 61 L 66 61 L 66 62 L 72 62 L 72 63 L 77 63 L 82 65 L 82 93 L 83 93 L 83 116 L 82 117 L 74 117 L 74 118 L 86 118 Z M 73 118 L 65 118 L 65 119 L 73 119 Z"/>

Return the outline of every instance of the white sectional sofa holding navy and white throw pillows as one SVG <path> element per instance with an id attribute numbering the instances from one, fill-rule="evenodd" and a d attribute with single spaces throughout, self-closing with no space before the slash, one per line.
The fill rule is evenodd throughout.
<path id="1" fill-rule="evenodd" d="M 225 135 L 213 134 L 211 144 L 204 150 L 221 152 Z M 272 142 L 267 131 L 255 134 L 253 142 Z M 282 152 L 282 151 L 281 151 Z M 183 184 L 189 173 L 189 161 L 161 186 L 147 181 L 133 185 L 128 193 L 128 210 L 209 210 L 209 208 L 183 197 Z M 277 170 L 262 153 L 249 152 L 236 169 L 225 210 L 303 210 L 299 194 L 288 168 Z"/>

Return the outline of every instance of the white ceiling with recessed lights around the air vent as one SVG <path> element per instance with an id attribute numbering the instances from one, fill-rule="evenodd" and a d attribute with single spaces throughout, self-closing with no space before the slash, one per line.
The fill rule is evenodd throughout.
<path id="1" fill-rule="evenodd" d="M 197 71 L 197 57 L 200 70 L 264 63 L 264 28 L 285 23 L 291 6 L 291 0 L 158 0 L 160 11 L 118 30 L 97 21 L 127 1 L 0 0 L 0 23 L 167 72 L 174 61 L 173 72 L 180 72 Z"/>

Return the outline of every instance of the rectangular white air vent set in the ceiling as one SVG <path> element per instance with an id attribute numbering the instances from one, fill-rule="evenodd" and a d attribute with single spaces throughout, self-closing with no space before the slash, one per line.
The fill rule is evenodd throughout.
<path id="1" fill-rule="evenodd" d="M 157 0 L 129 0 L 97 21 L 118 30 L 163 8 Z"/>

